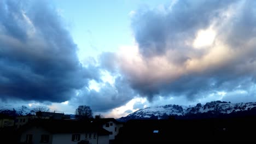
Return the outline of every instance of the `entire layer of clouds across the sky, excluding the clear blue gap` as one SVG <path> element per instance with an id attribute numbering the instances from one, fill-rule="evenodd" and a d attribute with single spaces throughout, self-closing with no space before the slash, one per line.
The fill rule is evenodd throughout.
<path id="1" fill-rule="evenodd" d="M 69 106 L 89 105 L 97 112 L 138 97 L 157 104 L 160 98 L 195 101 L 208 95 L 256 100 L 255 7 L 254 1 L 217 0 L 143 7 L 131 15 L 134 46 L 104 52 L 83 66 L 51 5 L 0 1 L 0 99 L 68 100 Z M 113 83 L 102 79 L 106 70 Z M 89 88 L 91 80 L 98 91 Z M 142 107 L 144 102 L 136 103 L 133 110 Z"/>

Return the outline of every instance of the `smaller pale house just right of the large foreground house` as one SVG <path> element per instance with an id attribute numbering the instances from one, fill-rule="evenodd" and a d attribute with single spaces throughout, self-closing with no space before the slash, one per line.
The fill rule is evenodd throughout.
<path id="1" fill-rule="evenodd" d="M 119 129 L 123 127 L 123 123 L 118 122 L 114 118 L 100 118 L 99 116 L 95 116 L 95 122 L 110 132 L 109 140 L 114 140 L 115 136 L 119 133 Z"/>

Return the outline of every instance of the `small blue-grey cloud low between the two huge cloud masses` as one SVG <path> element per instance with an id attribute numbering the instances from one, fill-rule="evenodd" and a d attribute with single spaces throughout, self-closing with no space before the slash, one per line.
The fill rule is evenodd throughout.
<path id="1" fill-rule="evenodd" d="M 117 77 L 114 85 L 106 82 L 98 92 L 94 89 L 83 89 L 71 103 L 90 105 L 92 111 L 104 112 L 126 104 L 134 96 L 135 93 L 127 81 L 122 77 Z"/>

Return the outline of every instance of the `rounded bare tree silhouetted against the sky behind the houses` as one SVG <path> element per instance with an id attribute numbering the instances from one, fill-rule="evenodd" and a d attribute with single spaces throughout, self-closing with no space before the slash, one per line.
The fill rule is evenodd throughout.
<path id="1" fill-rule="evenodd" d="M 75 115 L 77 115 L 79 119 L 93 118 L 91 107 L 87 105 L 79 105 L 75 110 Z"/>

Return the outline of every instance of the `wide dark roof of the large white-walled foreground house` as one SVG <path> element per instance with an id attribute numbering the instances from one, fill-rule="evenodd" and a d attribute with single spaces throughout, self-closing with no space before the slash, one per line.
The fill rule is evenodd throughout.
<path id="1" fill-rule="evenodd" d="M 31 127 L 42 127 L 53 134 L 60 133 L 98 133 L 98 135 L 109 135 L 109 131 L 99 125 L 83 121 L 67 121 L 56 119 L 34 119 L 22 127 L 21 131 Z"/>

